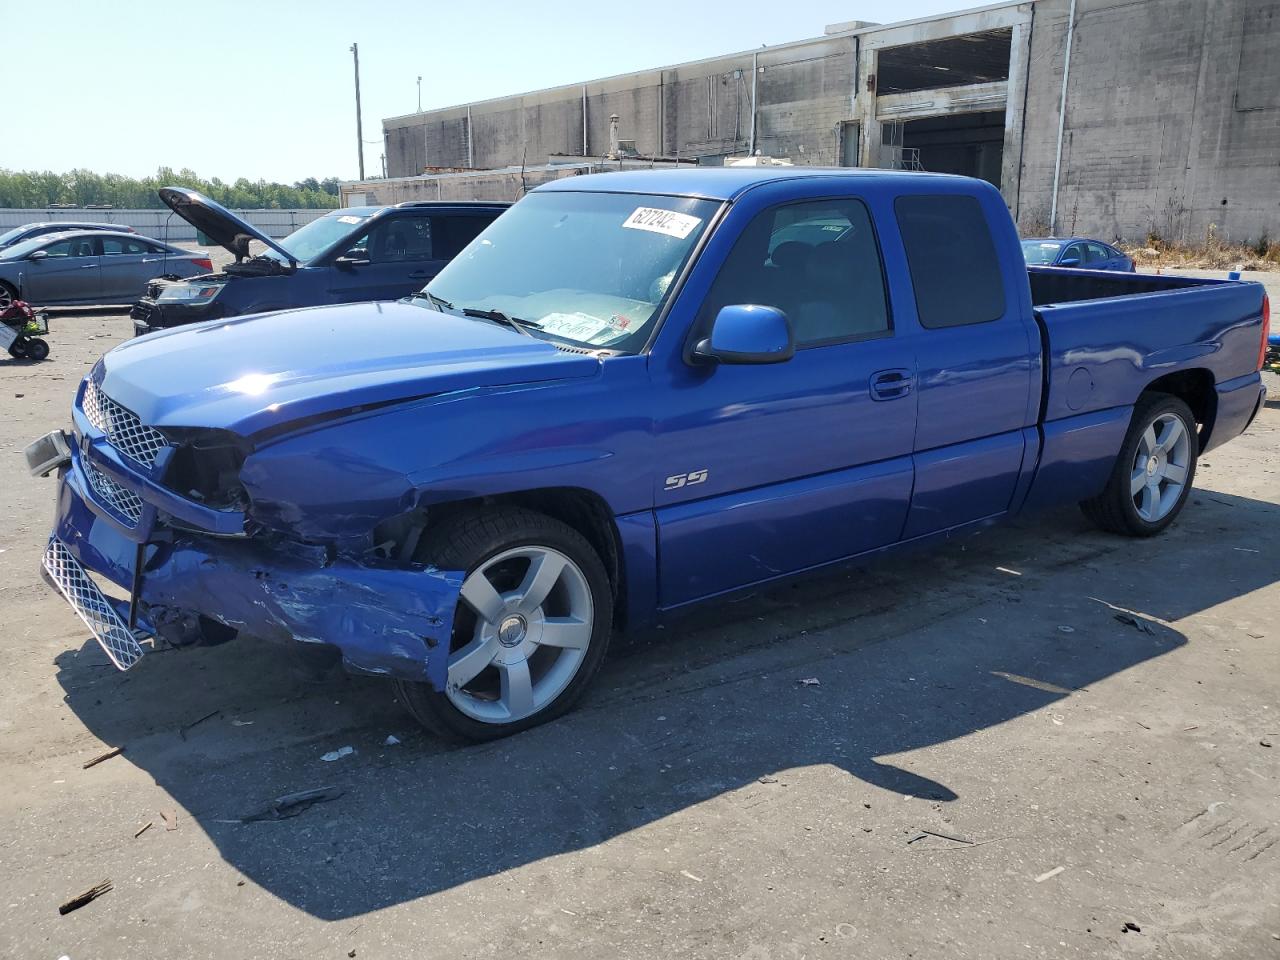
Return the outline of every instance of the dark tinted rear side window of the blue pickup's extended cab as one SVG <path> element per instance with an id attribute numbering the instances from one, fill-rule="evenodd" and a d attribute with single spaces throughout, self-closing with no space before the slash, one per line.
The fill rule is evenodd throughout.
<path id="1" fill-rule="evenodd" d="M 984 324 L 1004 315 L 1000 260 L 977 197 L 899 197 L 893 209 L 922 326 Z"/>

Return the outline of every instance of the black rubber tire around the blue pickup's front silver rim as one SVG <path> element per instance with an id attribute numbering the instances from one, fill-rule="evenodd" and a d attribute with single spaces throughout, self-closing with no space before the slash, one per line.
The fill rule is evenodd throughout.
<path id="1" fill-rule="evenodd" d="M 518 733 L 567 712 L 582 695 L 604 660 L 613 625 L 613 590 L 608 573 L 586 538 L 553 517 L 518 507 L 460 515 L 429 529 L 416 558 L 444 570 L 463 570 L 470 576 L 500 553 L 520 547 L 552 548 L 577 564 L 591 596 L 591 632 L 585 657 L 568 685 L 532 716 L 513 722 L 481 721 L 463 713 L 448 694 L 429 684 L 396 681 L 401 701 L 430 732 L 448 740 L 485 741 Z M 451 653 L 471 643 L 475 614 L 458 602 Z"/>

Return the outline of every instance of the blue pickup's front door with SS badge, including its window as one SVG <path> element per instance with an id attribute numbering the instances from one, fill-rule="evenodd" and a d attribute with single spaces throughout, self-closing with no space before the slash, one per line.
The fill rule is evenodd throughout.
<path id="1" fill-rule="evenodd" d="M 755 214 L 691 339 L 731 303 L 782 310 L 796 352 L 759 366 L 677 356 L 659 374 L 663 608 L 884 547 L 906 521 L 915 360 L 865 205 L 823 197 Z"/>

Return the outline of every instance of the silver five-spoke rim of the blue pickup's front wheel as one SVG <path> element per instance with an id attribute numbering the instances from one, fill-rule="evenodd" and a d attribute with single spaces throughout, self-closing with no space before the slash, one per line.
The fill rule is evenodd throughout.
<path id="1" fill-rule="evenodd" d="M 570 685 L 591 643 L 586 576 L 559 550 L 516 547 L 462 582 L 460 632 L 445 696 L 483 723 L 512 723 L 548 707 Z M 470 614 L 470 616 L 463 616 Z"/>

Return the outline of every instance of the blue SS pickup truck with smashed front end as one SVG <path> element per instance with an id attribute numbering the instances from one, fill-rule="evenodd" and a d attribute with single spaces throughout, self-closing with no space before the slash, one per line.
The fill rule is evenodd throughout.
<path id="1" fill-rule="evenodd" d="M 966 178 L 558 180 L 412 298 L 108 353 L 28 449 L 44 567 L 122 668 L 280 640 L 500 736 L 694 603 L 1050 504 L 1161 531 L 1263 403 L 1267 315 L 1252 283 L 1028 270 Z"/>

